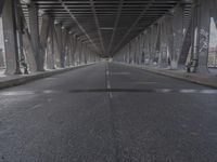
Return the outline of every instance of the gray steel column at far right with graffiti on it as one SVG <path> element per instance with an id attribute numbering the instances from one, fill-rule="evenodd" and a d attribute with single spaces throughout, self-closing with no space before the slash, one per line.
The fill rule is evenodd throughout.
<path id="1" fill-rule="evenodd" d="M 207 73 L 210 30 L 210 0 L 199 0 L 199 48 L 197 69 L 200 73 Z"/>

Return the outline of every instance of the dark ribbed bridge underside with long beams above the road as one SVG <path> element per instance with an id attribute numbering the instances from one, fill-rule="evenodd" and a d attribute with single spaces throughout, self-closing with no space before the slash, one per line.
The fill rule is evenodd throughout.
<path id="1" fill-rule="evenodd" d="M 24 0 L 22 0 L 24 1 Z M 40 11 L 111 55 L 181 0 L 31 0 Z M 26 11 L 27 12 L 27 11 Z"/>

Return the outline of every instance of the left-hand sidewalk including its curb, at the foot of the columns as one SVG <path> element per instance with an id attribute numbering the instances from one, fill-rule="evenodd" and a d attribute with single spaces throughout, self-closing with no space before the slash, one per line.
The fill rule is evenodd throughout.
<path id="1" fill-rule="evenodd" d="M 25 84 L 25 83 L 34 81 L 34 80 L 38 80 L 38 79 L 42 79 L 42 78 L 46 78 L 46 77 L 59 75 L 59 73 L 62 73 L 62 72 L 66 72 L 66 71 L 73 70 L 73 69 L 90 66 L 90 65 L 93 65 L 93 64 L 94 63 L 90 63 L 90 64 L 86 64 L 86 65 L 67 67 L 67 68 L 64 68 L 64 69 L 54 69 L 54 70 L 49 69 L 44 72 L 34 72 L 34 73 L 30 73 L 30 75 L 17 75 L 17 76 L 15 76 L 15 75 L 14 76 L 5 76 L 5 75 L 3 75 L 4 70 L 0 69 L 0 90 L 11 87 L 11 86 L 21 85 L 21 84 Z"/>

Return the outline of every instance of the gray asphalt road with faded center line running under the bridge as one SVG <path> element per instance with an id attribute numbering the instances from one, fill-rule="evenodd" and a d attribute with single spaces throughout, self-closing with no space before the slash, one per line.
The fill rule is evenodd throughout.
<path id="1" fill-rule="evenodd" d="M 0 162 L 216 162 L 217 91 L 100 63 L 0 91 Z"/>

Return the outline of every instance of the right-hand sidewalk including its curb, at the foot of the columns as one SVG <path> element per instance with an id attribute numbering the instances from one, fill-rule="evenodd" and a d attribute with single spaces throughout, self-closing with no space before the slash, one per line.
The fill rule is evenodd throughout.
<path id="1" fill-rule="evenodd" d="M 216 69 L 210 69 L 212 70 L 210 75 L 203 76 L 200 73 L 187 73 L 184 70 L 159 69 L 157 67 L 148 67 L 144 65 L 130 65 L 130 64 L 124 64 L 124 65 L 141 68 L 141 69 L 144 69 L 146 71 L 154 72 L 157 75 L 168 76 L 171 78 L 181 79 L 184 81 L 217 89 L 217 70 Z"/>

